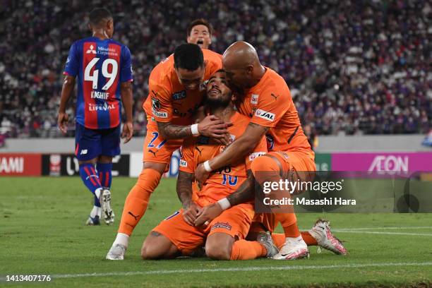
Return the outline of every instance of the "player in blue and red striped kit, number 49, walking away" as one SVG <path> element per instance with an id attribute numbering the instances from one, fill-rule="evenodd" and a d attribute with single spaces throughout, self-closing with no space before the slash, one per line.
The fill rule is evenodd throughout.
<path id="1" fill-rule="evenodd" d="M 69 51 L 58 125 L 66 133 L 66 104 L 77 82 L 75 155 L 81 179 L 95 195 L 87 224 L 100 224 L 102 215 L 111 224 L 112 157 L 120 154 L 120 138 L 127 143 L 133 135 L 131 52 L 111 39 L 114 21 L 107 9 L 95 8 L 90 12 L 89 28 L 92 37 L 74 42 Z M 121 102 L 126 123 L 120 135 Z"/>

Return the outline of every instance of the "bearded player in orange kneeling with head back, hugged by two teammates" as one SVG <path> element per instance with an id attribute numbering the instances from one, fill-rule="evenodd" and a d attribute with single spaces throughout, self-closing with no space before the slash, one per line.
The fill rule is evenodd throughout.
<path id="1" fill-rule="evenodd" d="M 234 140 L 244 133 L 249 119 L 234 111 L 232 97 L 231 90 L 226 86 L 224 73 L 215 73 L 207 85 L 205 104 L 210 113 L 224 121 L 232 121 L 233 126 L 228 128 L 228 132 Z M 224 210 L 220 216 L 206 225 L 194 226 L 199 208 L 215 203 L 236 191 L 247 178 L 246 169 L 250 162 L 265 153 L 267 146 L 265 139 L 261 138 L 246 157 L 215 171 L 198 191 L 196 202 L 193 201 L 194 169 L 199 163 L 212 159 L 224 149 L 224 145 L 204 136 L 184 141 L 177 180 L 177 194 L 183 209 L 174 212 L 152 229 L 141 250 L 144 259 L 189 255 L 203 244 L 207 256 L 220 260 L 254 259 L 260 256 L 273 256 L 278 252 L 269 234 L 260 235 L 258 241 L 245 240 L 254 215 L 251 202 Z"/>

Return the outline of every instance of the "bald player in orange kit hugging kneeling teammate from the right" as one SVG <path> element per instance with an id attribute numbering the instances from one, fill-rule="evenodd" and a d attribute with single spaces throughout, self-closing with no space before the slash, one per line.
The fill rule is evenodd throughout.
<path id="1" fill-rule="evenodd" d="M 280 167 L 284 172 L 291 169 L 299 172 L 314 172 L 316 170 L 314 153 L 301 128 L 285 80 L 272 69 L 261 65 L 256 50 L 246 42 L 232 44 L 224 52 L 222 64 L 227 73 L 229 87 L 241 95 L 236 102 L 238 111 L 250 117 L 251 121 L 245 133 L 224 152 L 197 167 L 195 170 L 197 181 L 201 184 L 205 183 L 212 170 L 220 169 L 247 155 L 264 135 L 268 138 L 270 152 L 256 159 L 251 167 L 258 182 L 262 180 L 257 179 L 259 172 L 275 172 L 275 170 L 279 171 Z M 246 199 L 251 197 L 250 193 L 253 193 L 252 184 L 245 182 L 244 186 L 247 185 L 250 187 L 242 189 L 245 192 L 242 195 L 246 195 Z M 244 199 L 239 200 L 239 194 L 234 193 L 227 200 L 234 205 Z M 221 208 L 218 204 L 204 208 L 196 223 L 212 220 L 215 215 L 220 214 Z M 294 212 L 277 213 L 275 221 L 282 224 L 286 238 L 280 253 L 273 258 L 294 260 L 308 257 L 308 248 L 297 227 Z M 325 229 L 327 228 L 328 226 L 325 226 Z M 338 245 L 342 245 L 340 241 L 337 242 Z"/>

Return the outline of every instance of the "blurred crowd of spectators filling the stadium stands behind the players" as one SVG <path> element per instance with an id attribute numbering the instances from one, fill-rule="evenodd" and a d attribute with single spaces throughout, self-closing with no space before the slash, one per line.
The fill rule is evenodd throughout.
<path id="1" fill-rule="evenodd" d="M 114 39 L 131 49 L 136 136 L 145 135 L 141 104 L 152 67 L 185 42 L 188 23 L 200 17 L 215 28 L 214 51 L 236 40 L 256 47 L 263 64 L 287 80 L 303 124 L 315 133 L 432 128 L 426 0 L 1 2 L 0 134 L 8 137 L 60 136 L 62 69 L 73 41 L 90 36 L 86 15 L 95 6 L 112 11 Z"/>

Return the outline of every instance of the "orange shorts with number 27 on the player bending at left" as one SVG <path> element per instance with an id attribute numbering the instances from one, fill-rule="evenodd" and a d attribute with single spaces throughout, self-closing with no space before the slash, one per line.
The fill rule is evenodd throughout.
<path id="1" fill-rule="evenodd" d="M 143 162 L 171 162 L 172 153 L 179 149 L 183 139 L 165 140 L 157 131 L 157 124 L 151 120 L 147 124 L 147 135 L 143 146 Z"/>

